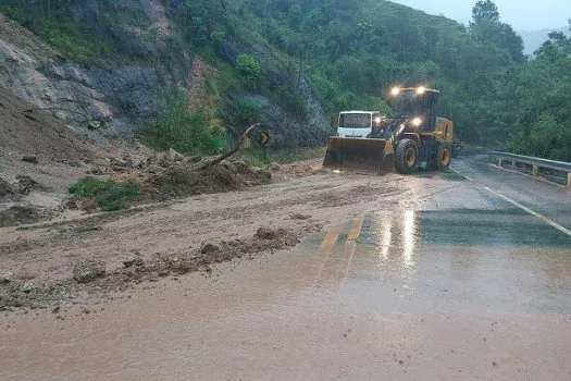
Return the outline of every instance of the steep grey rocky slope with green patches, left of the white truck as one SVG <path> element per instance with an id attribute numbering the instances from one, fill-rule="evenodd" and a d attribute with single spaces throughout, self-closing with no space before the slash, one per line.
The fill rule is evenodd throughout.
<path id="1" fill-rule="evenodd" d="M 17 20 L 0 15 L 0 84 L 99 140 L 132 136 L 164 116 L 161 100 L 172 94 L 190 99 L 189 111 L 218 133 L 237 133 L 256 119 L 276 148 L 319 145 L 328 135 L 325 113 L 302 77 L 295 89 L 300 112 L 284 107 L 276 91 L 226 88 L 236 77 L 228 64 L 243 47 L 222 44 L 226 60 L 204 62 L 174 21 L 177 1 L 69 1 L 55 19 L 71 15 L 73 27 L 42 24 L 37 13 L 28 20 L 10 3 L 17 2 L 0 2 Z"/>

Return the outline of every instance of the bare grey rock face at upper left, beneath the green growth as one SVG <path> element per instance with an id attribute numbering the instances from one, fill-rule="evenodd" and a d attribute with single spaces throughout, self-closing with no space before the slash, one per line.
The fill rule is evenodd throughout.
<path id="1" fill-rule="evenodd" d="M 101 33 L 105 33 L 101 30 Z M 107 67 L 69 61 L 27 29 L 0 15 L 0 85 L 37 108 L 50 109 L 89 133 L 87 120 L 104 122 L 111 135 L 126 135 L 156 112 L 154 97 L 185 79 L 193 57 L 169 54 L 163 42 L 146 46 L 149 54 L 169 59 L 161 65 L 109 61 Z M 173 70 L 173 67 L 175 70 Z"/>

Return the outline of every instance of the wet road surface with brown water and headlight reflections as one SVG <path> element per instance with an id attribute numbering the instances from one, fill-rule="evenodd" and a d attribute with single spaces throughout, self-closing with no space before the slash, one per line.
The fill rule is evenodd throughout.
<path id="1" fill-rule="evenodd" d="M 399 207 L 211 281 L 18 317 L 0 379 L 570 380 L 571 193 L 482 158 L 455 170 L 473 181 L 409 177 Z"/>

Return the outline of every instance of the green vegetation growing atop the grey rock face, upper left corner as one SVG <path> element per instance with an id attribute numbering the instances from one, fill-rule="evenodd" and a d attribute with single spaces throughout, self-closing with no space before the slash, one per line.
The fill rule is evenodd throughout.
<path id="1" fill-rule="evenodd" d="M 2 0 L 0 12 L 17 21 L 57 48 L 64 57 L 82 63 L 103 66 L 102 58 L 121 61 L 146 59 L 141 44 L 151 39 L 151 25 L 145 11 L 132 0 L 101 0 L 97 7 L 84 10 L 85 21 L 78 23 L 73 10 L 80 0 L 22 1 Z M 149 36 L 147 36 L 149 35 Z M 129 41 L 131 40 L 131 41 Z"/>

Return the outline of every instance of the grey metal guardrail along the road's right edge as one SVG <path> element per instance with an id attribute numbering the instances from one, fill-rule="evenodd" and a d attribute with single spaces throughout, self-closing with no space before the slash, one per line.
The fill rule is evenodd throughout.
<path id="1" fill-rule="evenodd" d="M 509 162 L 511 162 L 511 167 L 514 169 L 521 169 L 521 164 L 529 165 L 531 167 L 531 174 L 534 176 L 547 177 L 547 180 L 550 181 L 557 179 L 559 181 L 555 182 L 567 184 L 568 187 L 571 187 L 571 163 L 569 162 L 497 151 L 489 152 L 488 156 L 498 167 L 504 168 L 505 164 Z M 518 164 L 520 164 L 520 167 Z M 560 173 L 561 176 L 554 175 L 553 173 L 545 173 L 545 171 L 542 170 Z"/>

